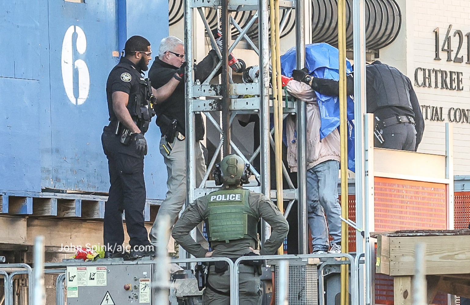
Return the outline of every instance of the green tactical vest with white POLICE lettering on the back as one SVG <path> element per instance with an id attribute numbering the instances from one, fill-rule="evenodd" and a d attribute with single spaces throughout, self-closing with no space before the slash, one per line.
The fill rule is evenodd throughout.
<path id="1" fill-rule="evenodd" d="M 258 239 L 258 218 L 251 211 L 248 196 L 250 191 L 223 190 L 207 195 L 208 215 L 205 223 L 209 241 Z"/>

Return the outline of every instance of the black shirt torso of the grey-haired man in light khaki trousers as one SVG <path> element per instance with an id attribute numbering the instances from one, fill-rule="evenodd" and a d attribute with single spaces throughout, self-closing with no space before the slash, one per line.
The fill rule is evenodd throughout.
<path id="1" fill-rule="evenodd" d="M 152 87 L 158 89 L 168 83 L 178 68 L 164 61 L 158 56 L 149 70 L 149 79 Z M 173 94 L 161 104 L 155 105 L 155 112 L 158 115 L 165 114 L 170 119 L 178 121 L 176 130 L 186 136 L 186 105 L 185 105 L 185 82 L 184 76 L 180 84 L 176 87 Z M 204 123 L 201 114 L 195 114 L 196 140 L 204 138 Z M 162 130 L 163 133 L 163 130 Z"/>

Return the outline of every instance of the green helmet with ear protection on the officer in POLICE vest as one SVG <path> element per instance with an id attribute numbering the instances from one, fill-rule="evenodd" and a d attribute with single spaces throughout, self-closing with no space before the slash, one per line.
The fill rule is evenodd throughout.
<path id="1" fill-rule="evenodd" d="M 240 185 L 248 183 L 251 175 L 250 164 L 237 155 L 227 155 L 214 170 L 216 184 Z"/>

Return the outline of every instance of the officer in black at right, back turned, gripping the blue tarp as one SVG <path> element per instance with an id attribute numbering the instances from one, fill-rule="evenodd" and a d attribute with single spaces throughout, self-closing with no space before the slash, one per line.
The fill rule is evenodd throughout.
<path id="1" fill-rule="evenodd" d="M 339 95 L 338 82 L 311 77 L 306 68 L 293 70 L 295 80 L 310 84 L 313 90 Z M 354 94 L 352 75 L 346 78 L 346 94 Z M 424 120 L 409 78 L 380 61 L 366 66 L 367 112 L 376 118 L 376 147 L 416 151 L 424 131 Z"/>

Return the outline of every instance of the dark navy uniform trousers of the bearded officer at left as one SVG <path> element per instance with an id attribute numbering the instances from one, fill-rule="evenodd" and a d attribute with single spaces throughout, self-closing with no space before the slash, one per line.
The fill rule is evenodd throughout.
<path id="1" fill-rule="evenodd" d="M 104 210 L 104 245 L 107 251 L 112 252 L 113 249 L 118 249 L 116 246 L 120 247 L 124 243 L 124 211 L 129 245 L 133 247 L 149 244 L 143 215 L 146 199 L 144 158 L 120 151 L 118 145 L 122 144 L 118 137 L 106 131 L 102 134 L 102 144 L 108 158 L 111 184 Z"/>

